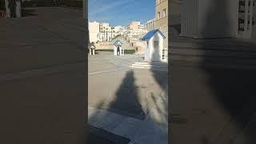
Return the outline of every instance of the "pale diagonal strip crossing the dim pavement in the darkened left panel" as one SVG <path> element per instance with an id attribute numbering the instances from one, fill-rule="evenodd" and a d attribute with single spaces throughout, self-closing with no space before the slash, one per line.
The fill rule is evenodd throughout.
<path id="1" fill-rule="evenodd" d="M 31 78 L 31 77 L 39 77 L 43 75 L 49 74 L 59 74 L 62 72 L 67 71 L 78 71 L 83 70 L 84 66 L 82 65 L 83 62 L 77 62 L 73 64 L 62 64 L 60 66 L 48 66 L 44 68 L 38 68 L 33 70 L 24 70 L 10 74 L 1 74 L 0 75 L 0 82 L 8 82 L 13 81 L 15 79 L 21 78 Z"/>

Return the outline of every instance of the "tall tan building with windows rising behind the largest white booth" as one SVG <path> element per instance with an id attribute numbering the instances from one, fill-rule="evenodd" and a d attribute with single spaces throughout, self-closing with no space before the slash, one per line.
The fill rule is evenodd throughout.
<path id="1" fill-rule="evenodd" d="M 156 0 L 155 6 L 155 29 L 161 30 L 166 37 L 163 41 L 163 50 L 168 50 L 168 0 Z"/>

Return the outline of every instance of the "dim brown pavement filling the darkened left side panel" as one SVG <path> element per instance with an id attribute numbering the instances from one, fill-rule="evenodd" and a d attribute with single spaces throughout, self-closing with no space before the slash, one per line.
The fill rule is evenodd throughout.
<path id="1" fill-rule="evenodd" d="M 86 110 L 82 11 L 30 12 L 0 19 L 1 143 L 81 143 Z"/>

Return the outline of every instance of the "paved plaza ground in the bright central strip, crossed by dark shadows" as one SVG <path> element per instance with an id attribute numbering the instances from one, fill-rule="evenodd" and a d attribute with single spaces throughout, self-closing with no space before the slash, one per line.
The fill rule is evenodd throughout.
<path id="1" fill-rule="evenodd" d="M 167 73 L 129 68 L 140 61 L 129 54 L 89 56 L 89 123 L 130 143 L 166 144 Z"/>

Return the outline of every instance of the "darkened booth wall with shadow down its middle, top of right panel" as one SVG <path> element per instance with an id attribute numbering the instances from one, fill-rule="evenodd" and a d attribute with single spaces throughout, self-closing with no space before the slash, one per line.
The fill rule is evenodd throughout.
<path id="1" fill-rule="evenodd" d="M 238 0 L 183 0 L 181 36 L 237 38 Z"/>

